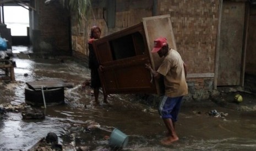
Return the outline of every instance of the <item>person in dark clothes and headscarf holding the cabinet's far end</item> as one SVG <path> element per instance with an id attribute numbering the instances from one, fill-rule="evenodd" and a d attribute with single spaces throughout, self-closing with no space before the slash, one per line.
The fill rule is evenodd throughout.
<path id="1" fill-rule="evenodd" d="M 91 33 L 90 33 L 90 39 L 88 42 L 88 48 L 89 48 L 89 68 L 91 69 L 91 88 L 94 90 L 94 98 L 96 104 L 100 104 L 99 102 L 99 90 L 101 88 L 101 82 L 99 77 L 98 69 L 100 67 L 99 62 L 96 59 L 94 49 L 92 47 L 92 42 L 96 39 L 99 39 L 101 36 L 101 30 L 98 26 L 92 26 Z M 107 101 L 107 95 L 104 95 L 104 103 L 108 104 Z"/>

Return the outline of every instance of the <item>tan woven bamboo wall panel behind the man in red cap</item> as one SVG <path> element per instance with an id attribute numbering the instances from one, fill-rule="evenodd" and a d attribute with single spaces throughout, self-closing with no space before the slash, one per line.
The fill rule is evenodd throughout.
<path id="1" fill-rule="evenodd" d="M 179 53 L 188 73 L 214 73 L 219 1 L 158 1 L 158 15 L 170 14 Z"/>

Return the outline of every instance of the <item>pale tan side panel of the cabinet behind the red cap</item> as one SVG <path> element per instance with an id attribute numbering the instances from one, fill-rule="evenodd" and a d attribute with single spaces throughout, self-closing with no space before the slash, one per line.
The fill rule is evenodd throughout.
<path id="1" fill-rule="evenodd" d="M 143 25 L 146 40 L 148 43 L 151 65 L 153 69 L 157 70 L 164 58 L 160 58 L 157 53 L 151 53 L 151 50 L 154 47 L 154 40 L 159 37 L 165 37 L 167 39 L 169 48 L 177 50 L 175 38 L 172 31 L 170 15 L 160 15 L 143 18 Z M 154 82 L 156 85 L 157 94 L 164 94 L 165 86 L 163 79 L 155 80 Z"/>

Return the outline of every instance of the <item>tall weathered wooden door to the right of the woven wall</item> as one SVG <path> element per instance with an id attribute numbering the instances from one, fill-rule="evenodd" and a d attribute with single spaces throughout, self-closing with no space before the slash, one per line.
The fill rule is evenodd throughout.
<path id="1" fill-rule="evenodd" d="M 245 3 L 224 1 L 217 86 L 241 84 Z"/>

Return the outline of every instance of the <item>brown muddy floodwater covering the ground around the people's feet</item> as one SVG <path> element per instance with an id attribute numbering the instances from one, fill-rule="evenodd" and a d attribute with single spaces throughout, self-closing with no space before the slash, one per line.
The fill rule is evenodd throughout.
<path id="1" fill-rule="evenodd" d="M 65 104 L 44 110 L 43 120 L 22 120 L 20 112 L 7 112 L 0 121 L 0 150 L 28 150 L 48 132 L 55 132 L 59 143 L 65 146 L 75 144 L 89 150 L 110 150 L 105 138 L 115 127 L 129 136 L 123 150 L 256 149 L 255 112 L 237 112 L 211 103 L 209 106 L 184 104 L 176 124 L 179 141 L 163 146 L 159 141 L 166 129 L 155 107 L 140 103 L 134 95 L 110 95 L 111 106 L 94 105 L 91 89 L 81 88 L 81 83 L 90 77 L 88 68 L 69 58 L 15 61 L 17 82 L 0 82 L 1 104 L 24 103 L 25 82 L 36 79 L 61 79 L 74 87 L 65 88 Z M 213 109 L 228 116 L 216 118 L 206 114 Z M 86 129 L 89 120 L 100 126 Z"/>

